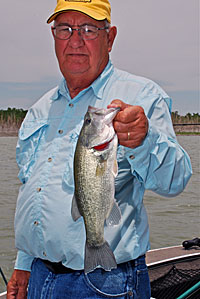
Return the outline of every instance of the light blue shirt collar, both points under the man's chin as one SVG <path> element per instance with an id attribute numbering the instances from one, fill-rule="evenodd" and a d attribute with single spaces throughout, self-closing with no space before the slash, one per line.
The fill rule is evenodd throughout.
<path id="1" fill-rule="evenodd" d="M 111 61 L 109 60 L 107 66 L 105 67 L 103 72 L 87 89 L 92 88 L 96 97 L 101 99 L 102 95 L 103 95 L 103 90 L 104 90 L 111 74 L 113 73 L 113 71 L 114 71 L 114 67 L 113 67 Z M 64 78 L 61 80 L 59 86 L 57 87 L 57 89 L 55 90 L 53 95 L 51 96 L 51 99 L 53 101 L 56 101 L 59 99 L 60 95 L 67 97 L 67 98 L 69 96 L 69 90 L 68 90 L 68 87 L 67 87 L 67 84 L 66 84 L 66 81 Z"/>

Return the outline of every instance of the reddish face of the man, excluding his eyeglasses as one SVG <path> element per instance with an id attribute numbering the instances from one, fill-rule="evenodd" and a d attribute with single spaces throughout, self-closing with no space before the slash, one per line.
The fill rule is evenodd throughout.
<path id="1" fill-rule="evenodd" d="M 68 26 L 93 25 L 105 27 L 105 22 L 96 21 L 80 12 L 68 11 L 58 15 L 55 26 L 66 24 Z M 66 80 L 74 77 L 84 78 L 93 82 L 103 71 L 109 59 L 109 52 L 116 36 L 116 28 L 112 27 L 109 33 L 99 30 L 97 38 L 83 40 L 78 31 L 73 31 L 67 40 L 55 39 L 55 51 L 60 70 Z"/>

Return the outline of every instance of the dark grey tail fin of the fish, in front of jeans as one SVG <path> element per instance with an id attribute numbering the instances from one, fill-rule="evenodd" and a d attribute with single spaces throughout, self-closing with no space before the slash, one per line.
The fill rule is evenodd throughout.
<path id="1" fill-rule="evenodd" d="M 116 269 L 117 263 L 115 260 L 115 256 L 109 244 L 106 241 L 102 246 L 99 247 L 88 246 L 86 242 L 84 263 L 85 273 L 92 272 L 98 266 L 103 268 L 105 271 L 111 271 L 112 269 Z"/>

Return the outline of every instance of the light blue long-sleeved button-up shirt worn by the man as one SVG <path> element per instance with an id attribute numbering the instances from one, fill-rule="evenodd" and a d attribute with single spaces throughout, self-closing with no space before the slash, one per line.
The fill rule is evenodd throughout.
<path id="1" fill-rule="evenodd" d="M 74 151 L 88 106 L 106 108 L 114 99 L 142 106 L 149 121 L 141 146 L 118 146 L 115 197 L 122 221 L 115 227 L 105 224 L 104 233 L 117 263 L 150 248 L 145 189 L 170 197 L 186 186 L 190 159 L 173 130 L 171 99 L 157 84 L 120 71 L 110 61 L 73 99 L 63 80 L 32 106 L 19 131 L 16 153 L 23 184 L 15 215 L 16 269 L 30 270 L 34 257 L 84 268 L 83 218 L 74 222 L 71 217 Z"/>

